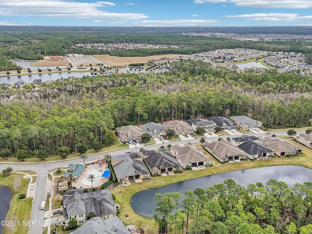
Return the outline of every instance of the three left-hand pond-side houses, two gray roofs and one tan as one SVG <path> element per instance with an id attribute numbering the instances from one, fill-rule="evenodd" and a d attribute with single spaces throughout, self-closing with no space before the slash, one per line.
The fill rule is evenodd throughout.
<path id="1" fill-rule="evenodd" d="M 182 168 L 205 169 L 211 159 L 194 145 L 174 145 L 167 149 L 142 150 L 111 156 L 118 181 L 146 179 L 150 174 L 163 174 L 180 171 Z"/>

